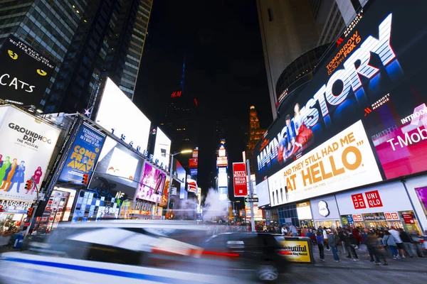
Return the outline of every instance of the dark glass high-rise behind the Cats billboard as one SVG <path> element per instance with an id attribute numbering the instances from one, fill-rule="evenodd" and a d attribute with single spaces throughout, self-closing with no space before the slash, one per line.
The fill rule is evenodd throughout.
<path id="1" fill-rule="evenodd" d="M 13 33 L 56 63 L 46 112 L 83 111 L 106 77 L 132 99 L 152 0 L 2 2 L 1 43 Z"/>

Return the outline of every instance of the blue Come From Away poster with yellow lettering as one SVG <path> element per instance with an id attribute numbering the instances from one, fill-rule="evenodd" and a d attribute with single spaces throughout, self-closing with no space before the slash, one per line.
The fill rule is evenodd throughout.
<path id="1" fill-rule="evenodd" d="M 85 124 L 80 126 L 59 180 L 81 185 L 84 174 L 88 174 L 90 180 L 104 140 L 101 133 Z"/>

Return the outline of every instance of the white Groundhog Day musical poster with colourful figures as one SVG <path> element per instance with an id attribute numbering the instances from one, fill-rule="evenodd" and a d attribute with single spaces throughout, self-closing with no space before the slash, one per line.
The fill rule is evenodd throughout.
<path id="1" fill-rule="evenodd" d="M 40 189 L 60 130 L 14 107 L 0 115 L 0 200 L 33 202 L 36 187 L 26 190 L 26 181 Z"/>

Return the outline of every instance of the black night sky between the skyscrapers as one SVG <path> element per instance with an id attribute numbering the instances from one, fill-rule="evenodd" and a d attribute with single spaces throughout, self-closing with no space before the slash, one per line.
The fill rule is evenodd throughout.
<path id="1" fill-rule="evenodd" d="M 256 107 L 261 127 L 267 128 L 273 120 L 256 3 L 153 2 L 134 102 L 153 124 L 159 124 L 170 94 L 179 88 L 185 56 L 183 95 L 199 101 L 198 181 L 206 192 L 219 143 L 214 133 L 216 119 L 228 120 L 229 165 L 242 159 L 249 107 Z"/>

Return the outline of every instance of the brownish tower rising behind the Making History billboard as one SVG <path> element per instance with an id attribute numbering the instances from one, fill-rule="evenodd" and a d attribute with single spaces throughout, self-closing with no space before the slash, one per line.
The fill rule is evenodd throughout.
<path id="1" fill-rule="evenodd" d="M 334 42 L 366 2 L 367 0 L 257 0 L 273 118 L 277 116 L 280 100 L 288 94 L 288 86 L 277 87 L 278 81 L 281 79 L 292 84 L 312 72 L 325 52 L 325 48 L 313 49 Z M 300 58 L 302 55 L 307 56 Z M 295 68 L 292 67 L 295 70 L 287 71 L 288 74 L 292 73 L 290 76 L 282 76 L 284 70 L 297 59 L 300 59 L 301 64 L 295 64 Z M 283 82 L 280 84 L 283 85 Z"/>

